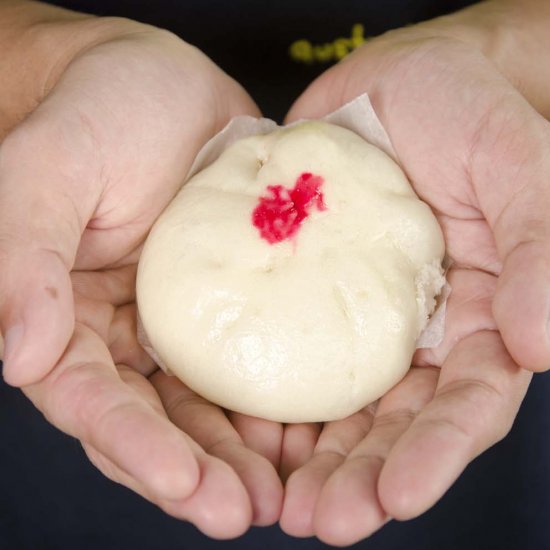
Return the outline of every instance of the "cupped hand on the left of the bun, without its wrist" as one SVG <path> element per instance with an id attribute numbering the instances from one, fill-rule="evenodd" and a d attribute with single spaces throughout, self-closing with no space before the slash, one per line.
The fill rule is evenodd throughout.
<path id="1" fill-rule="evenodd" d="M 278 519 L 282 427 L 237 415 L 238 433 L 158 372 L 136 341 L 134 287 L 145 236 L 198 150 L 232 116 L 258 111 L 174 35 L 90 25 L 103 38 L 51 68 L 0 146 L 3 375 L 105 475 L 233 537 Z"/>

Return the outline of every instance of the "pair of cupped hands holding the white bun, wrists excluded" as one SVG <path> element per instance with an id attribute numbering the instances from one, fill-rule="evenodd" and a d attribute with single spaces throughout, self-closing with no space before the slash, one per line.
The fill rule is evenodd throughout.
<path id="1" fill-rule="evenodd" d="M 202 145 L 259 111 L 175 36 L 129 21 L 52 73 L 0 146 L 4 377 L 92 463 L 207 535 L 279 521 L 345 545 L 431 507 L 550 366 L 550 131 L 475 47 L 411 27 L 324 73 L 288 121 L 368 92 L 452 261 L 445 337 L 376 405 L 319 424 L 224 411 L 136 340 L 152 223 Z"/>

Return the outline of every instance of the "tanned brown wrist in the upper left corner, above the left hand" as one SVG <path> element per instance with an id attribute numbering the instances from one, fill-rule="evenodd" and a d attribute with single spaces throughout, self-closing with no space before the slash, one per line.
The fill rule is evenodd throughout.
<path id="1" fill-rule="evenodd" d="M 0 141 L 82 52 L 145 25 L 31 1 L 0 2 Z"/>

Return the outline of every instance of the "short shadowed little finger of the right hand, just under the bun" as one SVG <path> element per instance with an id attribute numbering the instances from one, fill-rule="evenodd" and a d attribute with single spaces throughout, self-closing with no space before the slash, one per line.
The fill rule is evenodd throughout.
<path id="1" fill-rule="evenodd" d="M 312 456 L 321 432 L 321 424 L 287 424 L 283 434 L 279 475 L 283 483 Z"/>

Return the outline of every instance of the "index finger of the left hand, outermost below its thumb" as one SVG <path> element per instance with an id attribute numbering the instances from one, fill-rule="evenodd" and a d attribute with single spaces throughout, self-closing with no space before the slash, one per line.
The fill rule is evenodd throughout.
<path id="1" fill-rule="evenodd" d="M 86 327 L 77 325 L 59 365 L 24 391 L 52 424 L 93 446 L 152 498 L 186 498 L 197 489 L 199 464 L 188 440 L 119 378 Z"/>

